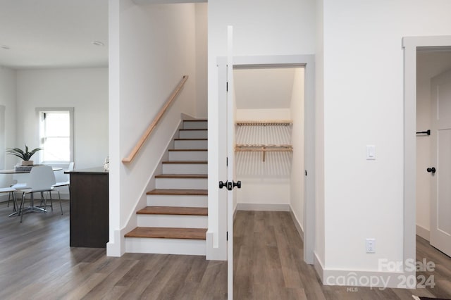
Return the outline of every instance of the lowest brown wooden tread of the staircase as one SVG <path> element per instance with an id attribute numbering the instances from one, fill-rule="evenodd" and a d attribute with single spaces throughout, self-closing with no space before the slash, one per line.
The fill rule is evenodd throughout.
<path id="1" fill-rule="evenodd" d="M 206 239 L 206 228 L 136 227 L 125 237 L 157 239 Z"/>

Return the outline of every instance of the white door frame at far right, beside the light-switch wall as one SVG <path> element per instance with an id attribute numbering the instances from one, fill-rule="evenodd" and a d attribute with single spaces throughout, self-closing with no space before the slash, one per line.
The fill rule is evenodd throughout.
<path id="1" fill-rule="evenodd" d="M 416 259 L 416 50 L 419 47 L 451 46 L 451 36 L 403 37 L 404 48 L 404 169 L 403 169 L 403 258 L 404 275 L 407 259 Z M 408 280 L 409 281 L 409 280 Z M 416 283 L 412 287 L 415 288 Z"/>

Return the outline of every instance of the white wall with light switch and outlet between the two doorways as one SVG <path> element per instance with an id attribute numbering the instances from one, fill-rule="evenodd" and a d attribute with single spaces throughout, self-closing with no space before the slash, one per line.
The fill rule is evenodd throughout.
<path id="1" fill-rule="evenodd" d="M 450 9 L 449 1 L 323 1 L 325 274 L 407 259 L 402 37 L 449 35 Z M 368 144 L 375 161 L 365 159 Z M 376 254 L 366 254 L 366 238 L 376 239 Z"/>

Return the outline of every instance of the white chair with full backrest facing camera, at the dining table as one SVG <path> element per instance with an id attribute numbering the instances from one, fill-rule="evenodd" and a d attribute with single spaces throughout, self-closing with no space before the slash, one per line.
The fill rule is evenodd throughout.
<path id="1" fill-rule="evenodd" d="M 27 211 L 41 211 L 47 213 L 47 199 L 44 199 L 44 192 L 51 192 L 53 190 L 53 185 L 56 183 L 54 170 L 50 165 L 41 165 L 36 166 L 31 169 L 30 175 L 27 180 L 27 186 L 17 189 L 18 192 L 22 192 L 22 201 L 20 203 L 19 214 L 20 214 L 20 223 L 22 223 L 23 214 Z M 35 193 L 41 193 L 41 203 L 44 203 L 44 208 L 35 206 Z M 24 208 L 25 194 L 30 194 L 30 207 Z M 53 203 L 51 201 L 51 193 L 50 193 L 50 204 L 51 210 L 53 211 Z M 61 201 L 59 202 L 61 207 L 61 213 L 63 213 L 63 206 L 61 205 Z"/>

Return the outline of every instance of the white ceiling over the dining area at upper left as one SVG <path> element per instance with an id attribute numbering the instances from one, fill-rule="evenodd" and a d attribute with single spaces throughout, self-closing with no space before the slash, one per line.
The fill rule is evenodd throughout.
<path id="1" fill-rule="evenodd" d="M 108 0 L 0 0 L 0 65 L 107 66 Z"/>

